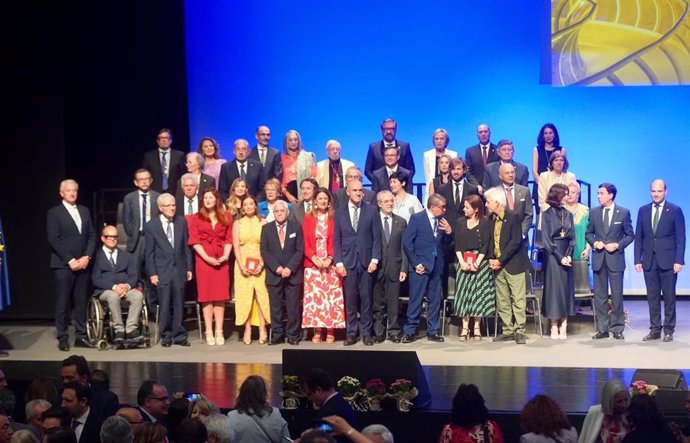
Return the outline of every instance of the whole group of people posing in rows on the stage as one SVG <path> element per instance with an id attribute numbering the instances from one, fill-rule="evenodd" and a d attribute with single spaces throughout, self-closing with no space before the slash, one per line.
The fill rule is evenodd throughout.
<path id="1" fill-rule="evenodd" d="M 120 298 L 134 301 L 134 320 L 124 325 L 114 319 L 116 341 L 141 340 L 134 311 L 141 306 L 139 277 L 145 274 L 145 286 L 157 293 L 163 346 L 189 346 L 182 310 L 193 277 L 209 345 L 225 343 L 231 287 L 245 344 L 252 342 L 252 326 L 258 326 L 261 344 L 296 345 L 302 328 L 313 328 L 314 343 L 333 343 L 338 329 L 345 329 L 345 345 L 360 339 L 365 345 L 386 339 L 411 343 L 425 300 L 427 338 L 442 342 L 441 303 L 448 273 L 456 272 L 460 340 L 481 340 L 482 318 L 497 310 L 503 332 L 494 341 L 523 344 L 531 268 L 526 243 L 535 212 L 545 252 L 543 315 L 551 321 L 552 338 L 567 337 L 568 317 L 575 313 L 574 280 L 588 279 L 590 257 L 597 314 L 593 338 L 609 332 L 623 338 L 623 250 L 634 240 L 635 267 L 644 271 L 648 287 L 645 340 L 661 338 L 662 332 L 664 341 L 673 339 L 685 231 L 683 213 L 666 201 L 662 180 L 651 184 L 652 203 L 640 209 L 635 237 L 629 211 L 614 203 L 613 184 L 598 187 L 600 206 L 591 212 L 579 203 L 580 186 L 554 125 L 544 125 L 537 138 L 530 191 L 528 168 L 513 159 L 513 143 L 492 143 L 489 126 L 481 124 L 479 143 L 464 158 L 447 149 L 446 130 L 433 132 L 434 147 L 423 156 L 428 196 L 422 205 L 412 193 L 410 145 L 396 132 L 396 122 L 384 120 L 382 139 L 369 146 L 364 168 L 369 190 L 362 171 L 341 157 L 336 140 L 326 143 L 328 158 L 317 162 L 297 131 L 285 134 L 281 153 L 270 146 L 270 129 L 259 126 L 256 145 L 250 149 L 247 140 L 236 140 L 234 159 L 226 161 L 211 138 L 185 155 L 171 148 L 171 131 L 161 129 L 158 148 L 145 154 L 135 173 L 137 190 L 123 201 L 127 248 L 122 251 L 113 226 L 103 228 L 103 246 L 96 251 L 88 209 L 76 204 L 77 183 L 63 181 L 63 201 L 48 213 L 59 348 L 69 350 L 70 301 L 75 346 L 88 345 L 90 274 L 97 296 L 111 308 Z M 96 264 L 90 266 L 94 253 Z M 401 291 L 403 285 L 408 289 Z M 401 293 L 409 294 L 404 321 Z"/>

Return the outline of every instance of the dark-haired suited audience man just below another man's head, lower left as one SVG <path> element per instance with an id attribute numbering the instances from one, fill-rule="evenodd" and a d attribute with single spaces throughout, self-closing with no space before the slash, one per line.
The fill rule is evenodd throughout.
<path id="1" fill-rule="evenodd" d="M 81 381 L 71 381 L 62 388 L 62 409 L 68 413 L 63 426 L 72 428 L 79 443 L 100 441 L 103 417 L 89 406 L 92 388 Z"/>

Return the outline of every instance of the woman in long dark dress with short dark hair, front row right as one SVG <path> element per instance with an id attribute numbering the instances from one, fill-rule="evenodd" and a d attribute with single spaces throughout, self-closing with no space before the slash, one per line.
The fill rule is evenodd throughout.
<path id="1" fill-rule="evenodd" d="M 549 189 L 546 202 L 549 208 L 541 221 L 544 241 L 544 317 L 551 320 L 551 338 L 565 340 L 568 316 L 575 314 L 575 283 L 573 279 L 573 249 L 575 230 L 573 214 L 563 207 L 568 187 L 556 183 Z M 560 328 L 558 322 L 560 321 Z"/>

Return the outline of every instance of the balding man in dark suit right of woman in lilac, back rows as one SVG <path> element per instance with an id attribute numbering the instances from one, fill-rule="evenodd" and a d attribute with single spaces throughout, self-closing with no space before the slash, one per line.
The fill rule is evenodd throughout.
<path id="1" fill-rule="evenodd" d="M 243 178 L 247 182 L 247 192 L 259 201 L 263 201 L 264 180 L 261 162 L 249 158 L 247 140 L 235 140 L 235 159 L 223 163 L 220 167 L 218 192 L 223 200 L 230 195 L 230 187 L 235 179 Z"/>

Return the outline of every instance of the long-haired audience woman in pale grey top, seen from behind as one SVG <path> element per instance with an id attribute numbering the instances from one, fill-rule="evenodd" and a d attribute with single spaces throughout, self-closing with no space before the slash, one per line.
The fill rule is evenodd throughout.
<path id="1" fill-rule="evenodd" d="M 266 383 L 258 375 L 250 375 L 240 386 L 235 409 L 228 412 L 233 440 L 238 442 L 290 441 L 287 422 L 278 408 L 267 400 Z"/>

